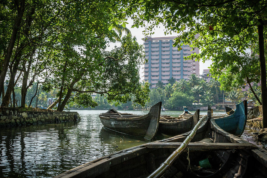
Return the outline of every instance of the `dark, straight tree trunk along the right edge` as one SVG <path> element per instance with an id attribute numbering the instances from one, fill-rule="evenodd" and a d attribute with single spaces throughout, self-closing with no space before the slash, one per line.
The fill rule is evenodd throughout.
<path id="1" fill-rule="evenodd" d="M 261 101 L 263 128 L 267 128 L 267 86 L 266 86 L 266 61 L 264 57 L 263 25 L 258 25 L 259 33 L 259 56 L 260 56 L 260 78 L 261 78 Z"/>

